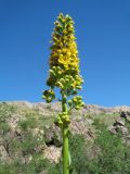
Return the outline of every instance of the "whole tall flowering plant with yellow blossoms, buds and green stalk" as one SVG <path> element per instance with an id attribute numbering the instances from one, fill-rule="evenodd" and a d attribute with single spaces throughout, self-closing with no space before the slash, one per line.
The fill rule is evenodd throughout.
<path id="1" fill-rule="evenodd" d="M 79 71 L 79 58 L 75 37 L 74 21 L 69 15 L 57 16 L 51 40 L 50 70 L 42 98 L 47 102 L 55 99 L 54 88 L 60 88 L 62 112 L 57 114 L 55 124 L 63 135 L 63 174 L 69 174 L 69 111 L 83 107 L 82 97 L 77 96 L 83 79 Z"/>

